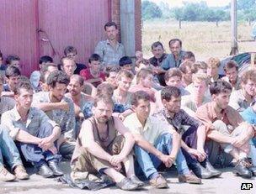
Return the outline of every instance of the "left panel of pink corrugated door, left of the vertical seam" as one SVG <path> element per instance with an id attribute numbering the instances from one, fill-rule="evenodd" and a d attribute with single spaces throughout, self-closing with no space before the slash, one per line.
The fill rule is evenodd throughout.
<path id="1" fill-rule="evenodd" d="M 38 63 L 35 8 L 36 1 L 0 0 L 0 50 L 19 55 L 26 74 Z"/>

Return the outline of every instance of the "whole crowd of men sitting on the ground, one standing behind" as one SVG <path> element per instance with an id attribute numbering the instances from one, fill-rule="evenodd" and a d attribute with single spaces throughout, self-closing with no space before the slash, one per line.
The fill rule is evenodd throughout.
<path id="1" fill-rule="evenodd" d="M 18 56 L 0 64 L 0 181 L 29 179 L 28 163 L 40 176 L 62 176 L 61 159 L 71 160 L 72 181 L 105 176 L 122 190 L 144 180 L 168 187 L 159 170 L 173 165 L 179 182 L 194 184 L 221 176 L 216 166 L 256 176 L 253 66 L 238 76 L 230 60 L 221 77 L 219 59 L 196 61 L 179 39 L 170 40 L 171 54 L 161 42 L 149 60 L 137 51 L 133 64 L 116 25 L 104 29 L 108 39 L 88 66 L 77 63 L 72 46 L 60 65 L 42 56 L 29 78 Z"/>

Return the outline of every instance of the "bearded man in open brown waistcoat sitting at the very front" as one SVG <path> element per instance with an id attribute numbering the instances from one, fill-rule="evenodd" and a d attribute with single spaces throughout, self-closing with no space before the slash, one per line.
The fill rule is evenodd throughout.
<path id="1" fill-rule="evenodd" d="M 131 133 L 119 118 L 112 117 L 114 102 L 109 95 L 98 96 L 93 104 L 93 117 L 83 122 L 72 155 L 72 180 L 83 180 L 88 174 L 106 174 L 122 190 L 142 186 L 134 172 Z M 119 135 L 120 134 L 120 135 Z M 125 174 L 120 173 L 121 164 Z"/>

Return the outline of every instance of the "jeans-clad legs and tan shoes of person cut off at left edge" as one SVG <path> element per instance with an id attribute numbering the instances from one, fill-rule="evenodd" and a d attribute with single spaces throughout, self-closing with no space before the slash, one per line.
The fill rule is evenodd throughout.
<path id="1" fill-rule="evenodd" d="M 3 158 L 14 171 L 14 175 L 4 168 Z M 0 125 L 0 181 L 13 181 L 16 178 L 20 180 L 29 179 L 22 161 L 19 157 L 19 151 L 3 125 Z"/>

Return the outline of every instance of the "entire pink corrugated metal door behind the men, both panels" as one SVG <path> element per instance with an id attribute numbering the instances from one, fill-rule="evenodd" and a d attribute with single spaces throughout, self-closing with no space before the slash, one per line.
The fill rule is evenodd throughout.
<path id="1" fill-rule="evenodd" d="M 0 50 L 4 55 L 19 55 L 27 76 L 37 69 L 41 55 L 51 55 L 59 62 L 67 45 L 75 46 L 79 61 L 87 63 L 97 42 L 104 39 L 110 2 L 0 0 Z"/>

